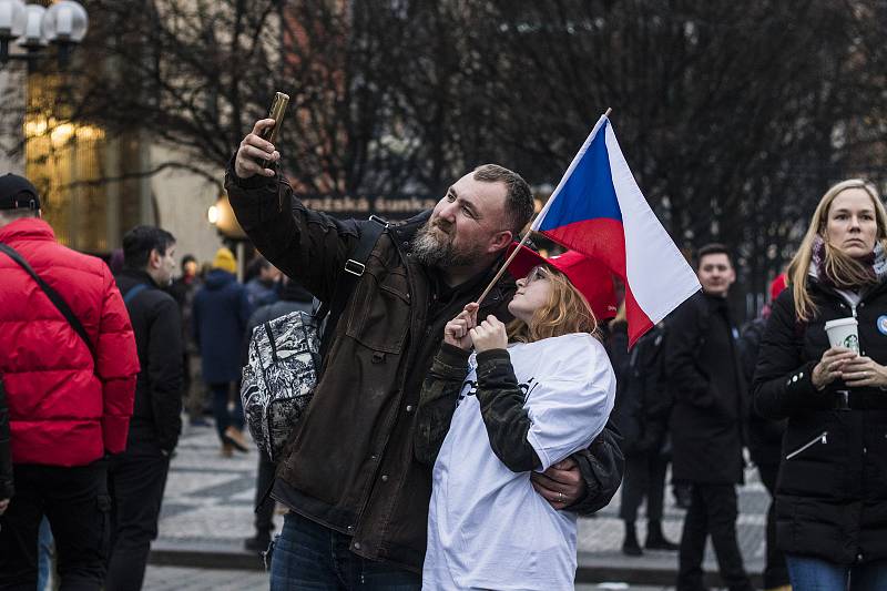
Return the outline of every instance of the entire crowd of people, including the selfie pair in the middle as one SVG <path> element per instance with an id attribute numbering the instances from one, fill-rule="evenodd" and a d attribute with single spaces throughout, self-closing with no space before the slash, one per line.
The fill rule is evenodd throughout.
<path id="1" fill-rule="evenodd" d="M 258 454 L 246 547 L 267 550 L 272 590 L 569 589 L 578 516 L 621 486 L 624 553 L 676 551 L 676 588 L 701 591 L 711 538 L 724 584 L 747 591 L 745 449 L 774 499 L 765 588 L 887 585 L 887 213 L 870 185 L 825 194 L 761 318 L 740 327 L 733 257 L 710 244 L 702 292 L 629 349 L 594 261 L 518 245 L 498 273 L 533 213 L 517 173 L 478 166 L 370 233 L 278 180 L 272 124 L 226 172 L 264 255 L 244 284 L 227 248 L 174 278 L 175 237 L 153 226 L 126 233 L 112 274 L 57 243 L 27 180 L 0 177 L 0 589 L 38 584 L 50 530 L 61 589 L 140 589 L 183 415 L 212 416 L 223 458 L 246 452 L 249 335 L 322 302 L 339 305 L 312 403 L 279 461 Z M 856 340 L 833 345 L 826 323 L 848 317 Z"/>

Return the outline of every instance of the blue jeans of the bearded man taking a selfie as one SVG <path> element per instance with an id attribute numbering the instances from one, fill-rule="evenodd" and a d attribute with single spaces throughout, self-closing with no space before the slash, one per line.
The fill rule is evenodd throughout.
<path id="1" fill-rule="evenodd" d="M 271 591 L 419 591 L 421 575 L 349 550 L 351 537 L 297 513 L 284 518 L 274 541 Z"/>

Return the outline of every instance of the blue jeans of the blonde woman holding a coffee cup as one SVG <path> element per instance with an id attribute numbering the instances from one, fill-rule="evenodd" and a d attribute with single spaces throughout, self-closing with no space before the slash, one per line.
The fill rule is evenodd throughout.
<path id="1" fill-rule="evenodd" d="M 887 589 L 887 560 L 835 564 L 818 558 L 787 554 L 793 591 L 883 591 Z M 847 582 L 849 581 L 849 587 Z"/>

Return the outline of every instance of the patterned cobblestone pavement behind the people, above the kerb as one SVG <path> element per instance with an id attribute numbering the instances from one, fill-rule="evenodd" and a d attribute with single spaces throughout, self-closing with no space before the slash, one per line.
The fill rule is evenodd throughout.
<path id="1" fill-rule="evenodd" d="M 223 458 L 220 450 L 214 428 L 186 426 L 172 461 L 161 512 L 160 537 L 153 547 L 155 551 L 203 549 L 242 553 L 245 560 L 252 561 L 252 557 L 243 553 L 243 540 L 253 534 L 253 497 L 258 455 L 252 450 Z M 746 569 L 750 573 L 759 573 L 765 556 L 764 524 L 768 497 L 754 470 L 746 473 L 746 486 L 740 488 L 737 531 Z M 675 541 L 680 539 L 682 519 L 683 511 L 673 506 L 671 493 L 666 493 L 663 520 L 666 537 Z M 279 527 L 282 517 L 275 516 L 275 521 Z M 638 529 L 643 540 L 644 520 L 639 520 Z M 595 518 L 580 519 L 580 570 L 583 567 L 604 569 L 604 572 L 609 572 L 606 569 L 621 572 L 676 569 L 674 552 L 646 551 L 640 558 L 623 556 L 620 550 L 622 534 L 616 495 L 613 502 Z M 258 567 L 257 560 L 248 564 Z M 241 563 L 232 567 L 243 568 Z M 717 570 L 711 544 L 705 567 L 710 571 Z M 655 582 L 672 580 L 662 579 L 660 575 Z M 630 580 L 649 582 L 649 579 Z"/>

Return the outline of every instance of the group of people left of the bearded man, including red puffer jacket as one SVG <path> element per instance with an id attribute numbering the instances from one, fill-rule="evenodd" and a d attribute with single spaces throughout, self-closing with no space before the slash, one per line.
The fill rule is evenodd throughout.
<path id="1" fill-rule="evenodd" d="M 213 416 L 223 457 L 248 451 L 236 385 L 251 316 L 312 297 L 261 257 L 239 284 L 228 248 L 177 273 L 175 237 L 155 226 L 105 265 L 55 242 L 26 179 L 0 177 L 0 588 L 45 589 L 54 562 L 61 589 L 140 589 L 183 407 L 194 427 Z M 271 531 L 261 511 L 246 547 Z"/>

